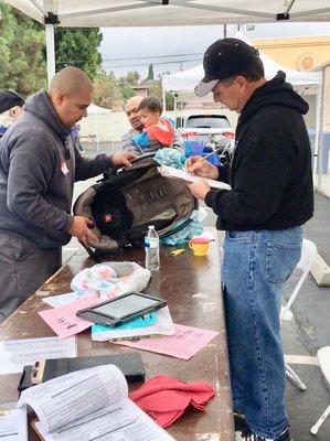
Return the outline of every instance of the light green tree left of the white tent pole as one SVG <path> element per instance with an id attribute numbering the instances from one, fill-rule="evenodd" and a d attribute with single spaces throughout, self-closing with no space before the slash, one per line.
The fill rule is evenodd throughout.
<path id="1" fill-rule="evenodd" d="M 0 1 L 0 85 L 26 97 L 46 86 L 44 28 Z"/>

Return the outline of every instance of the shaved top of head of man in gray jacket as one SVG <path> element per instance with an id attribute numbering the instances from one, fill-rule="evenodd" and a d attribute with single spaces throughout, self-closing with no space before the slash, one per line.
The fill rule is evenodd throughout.
<path id="1" fill-rule="evenodd" d="M 82 92 L 93 92 L 93 85 L 85 72 L 77 67 L 64 67 L 53 76 L 50 84 L 50 95 L 64 92 L 67 96 L 77 96 Z"/>

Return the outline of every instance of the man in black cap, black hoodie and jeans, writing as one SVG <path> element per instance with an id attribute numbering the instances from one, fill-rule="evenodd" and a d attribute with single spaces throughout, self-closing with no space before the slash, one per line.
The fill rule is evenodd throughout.
<path id="1" fill-rule="evenodd" d="M 204 71 L 196 94 L 213 92 L 214 101 L 241 114 L 231 164 L 188 161 L 189 172 L 232 186 L 211 190 L 200 180 L 190 189 L 226 230 L 222 283 L 234 411 L 248 439 L 288 441 L 279 313 L 283 283 L 301 254 L 300 226 L 313 212 L 308 105 L 283 72 L 266 82 L 257 50 L 241 40 L 213 43 Z"/>

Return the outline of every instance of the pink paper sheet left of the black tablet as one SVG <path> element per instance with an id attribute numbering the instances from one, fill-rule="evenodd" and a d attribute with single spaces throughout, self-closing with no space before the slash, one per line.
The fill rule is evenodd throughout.
<path id="1" fill-rule="evenodd" d="M 63 306 L 40 311 L 39 314 L 58 337 L 66 338 L 87 330 L 87 327 L 92 325 L 87 320 L 78 318 L 76 312 L 92 304 L 100 303 L 102 301 L 99 297 L 87 297 Z"/>

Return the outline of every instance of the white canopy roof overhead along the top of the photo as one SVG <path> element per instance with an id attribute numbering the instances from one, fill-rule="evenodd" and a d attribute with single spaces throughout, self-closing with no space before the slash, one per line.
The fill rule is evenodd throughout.
<path id="1" fill-rule="evenodd" d="M 166 26 L 277 21 L 284 0 L 7 0 L 44 23 L 49 12 L 61 26 Z M 169 4 L 162 4 L 169 3 Z M 291 2 L 288 2 L 289 4 Z M 290 21 L 330 21 L 329 0 L 296 0 Z"/>

